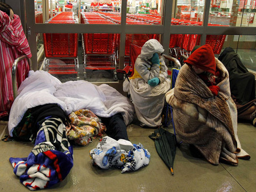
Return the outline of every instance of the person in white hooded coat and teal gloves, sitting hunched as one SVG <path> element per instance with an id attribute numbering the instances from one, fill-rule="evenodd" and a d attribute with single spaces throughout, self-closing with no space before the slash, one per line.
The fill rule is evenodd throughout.
<path id="1" fill-rule="evenodd" d="M 131 94 L 142 127 L 161 126 L 164 95 L 171 86 L 163 52 L 163 46 L 156 39 L 149 39 L 135 61 L 130 83 L 126 79 L 123 84 L 123 90 Z"/>

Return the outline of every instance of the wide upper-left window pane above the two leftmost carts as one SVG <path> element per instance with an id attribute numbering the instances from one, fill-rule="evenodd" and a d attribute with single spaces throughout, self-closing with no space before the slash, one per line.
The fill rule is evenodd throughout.
<path id="1" fill-rule="evenodd" d="M 62 21 L 70 22 L 73 20 L 75 23 L 85 24 L 119 24 L 121 21 L 121 1 L 37 0 L 35 1 L 35 22 L 52 23 L 60 13 L 69 12 L 71 15 L 62 17 Z M 49 10 L 49 12 L 45 10 Z"/>

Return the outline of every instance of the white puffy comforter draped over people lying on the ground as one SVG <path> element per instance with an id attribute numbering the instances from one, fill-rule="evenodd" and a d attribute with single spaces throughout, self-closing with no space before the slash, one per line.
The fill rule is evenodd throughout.
<path id="1" fill-rule="evenodd" d="M 47 103 L 58 104 L 69 115 L 72 111 L 89 109 L 100 117 L 122 113 L 126 125 L 134 115 L 131 101 L 107 84 L 100 86 L 87 81 L 61 83 L 46 71 L 29 71 L 14 100 L 9 117 L 9 134 L 29 108 Z"/>

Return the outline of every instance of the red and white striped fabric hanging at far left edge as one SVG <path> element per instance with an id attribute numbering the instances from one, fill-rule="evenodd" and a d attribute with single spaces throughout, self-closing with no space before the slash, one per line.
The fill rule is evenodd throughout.
<path id="1" fill-rule="evenodd" d="M 12 21 L 6 13 L 0 11 L 0 118 L 9 115 L 13 102 L 12 64 L 21 55 L 27 55 L 28 58 L 32 56 L 20 18 L 14 14 Z M 28 75 L 29 64 L 27 60 L 19 63 L 17 71 L 19 87 Z"/>

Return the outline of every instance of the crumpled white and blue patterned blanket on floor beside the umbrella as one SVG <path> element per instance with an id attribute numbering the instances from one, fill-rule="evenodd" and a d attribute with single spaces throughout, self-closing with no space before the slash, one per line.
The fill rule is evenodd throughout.
<path id="1" fill-rule="evenodd" d="M 147 166 L 150 161 L 150 153 L 143 148 L 142 144 L 133 144 L 130 150 L 120 145 L 108 136 L 103 137 L 97 147 L 90 150 L 92 164 L 101 169 L 116 167 L 121 169 L 121 173 L 136 171 L 141 167 Z"/>

